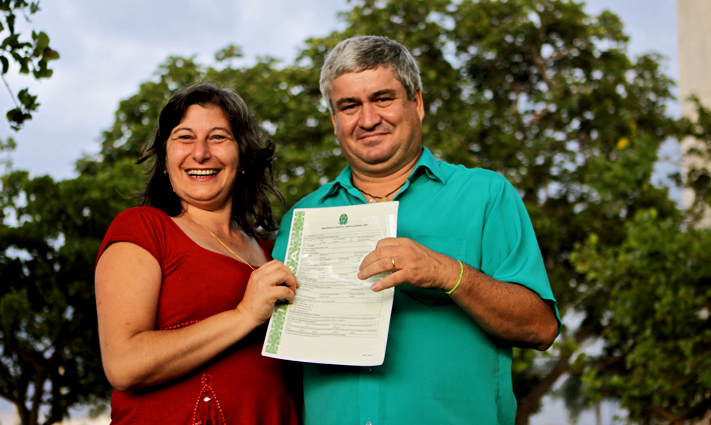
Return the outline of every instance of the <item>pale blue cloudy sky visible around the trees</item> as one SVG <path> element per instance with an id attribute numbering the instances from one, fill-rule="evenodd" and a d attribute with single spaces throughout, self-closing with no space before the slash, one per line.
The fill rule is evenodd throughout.
<path id="1" fill-rule="evenodd" d="M 0 138 L 13 137 L 17 142 L 16 151 L 9 154 L 15 169 L 62 180 L 76 175 L 77 159 L 98 151 L 101 132 L 113 123 L 119 101 L 153 79 L 168 56 L 195 55 L 198 62 L 209 64 L 215 52 L 235 44 L 242 47 L 247 61 L 269 55 L 289 63 L 307 38 L 342 29 L 337 12 L 349 4 L 346 0 L 43 0 L 40 7 L 32 22 L 20 28 L 45 31 L 61 59 L 51 63 L 52 78 L 39 83 L 12 72 L 6 76 L 14 92 L 29 86 L 39 95 L 41 106 L 20 132 L 0 123 Z M 667 75 L 678 79 L 676 1 L 586 2 L 588 13 L 604 9 L 621 17 L 631 36 L 632 55 L 661 53 Z M 9 94 L 0 86 L 0 115 L 11 108 Z M 671 105 L 670 111 L 679 114 L 679 107 Z M 678 156 L 674 144 L 665 151 Z M 7 157 L 0 153 L 0 159 Z M 602 425 L 614 423 L 618 413 L 605 406 Z M 0 399 L 0 425 L 13 423 L 10 405 Z M 550 400 L 533 421 L 533 425 L 566 423 L 560 403 Z M 578 423 L 594 424 L 594 416 L 586 414 Z"/>

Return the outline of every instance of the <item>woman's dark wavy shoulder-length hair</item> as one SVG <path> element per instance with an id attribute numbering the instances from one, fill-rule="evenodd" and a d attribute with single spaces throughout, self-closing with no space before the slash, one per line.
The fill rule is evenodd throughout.
<path id="1" fill-rule="evenodd" d="M 274 184 L 274 143 L 266 140 L 266 146 L 262 147 L 262 131 L 237 93 L 210 83 L 183 88 L 163 107 L 151 141 L 137 162 L 140 164 L 155 157 L 148 182 L 139 194 L 141 204 L 156 207 L 171 217 L 183 213 L 180 198 L 173 192 L 168 174 L 163 171 L 168 137 L 191 105 L 217 106 L 232 125 L 232 133 L 239 145 L 240 162 L 232 196 L 232 220 L 253 237 L 263 237 L 276 230 L 278 226 L 272 216 L 268 194 L 272 193 L 281 202 L 284 200 Z"/>

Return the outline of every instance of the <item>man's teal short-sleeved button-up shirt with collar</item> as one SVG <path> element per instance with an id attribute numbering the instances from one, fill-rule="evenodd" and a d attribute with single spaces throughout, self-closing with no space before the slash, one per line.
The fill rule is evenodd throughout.
<path id="1" fill-rule="evenodd" d="M 395 200 L 398 237 L 524 285 L 555 306 L 528 213 L 505 178 L 438 161 L 424 148 Z M 363 203 L 346 167 L 294 208 Z M 273 251 L 282 261 L 292 215 L 284 216 Z M 560 323 L 557 307 L 556 315 Z M 443 291 L 399 285 L 382 366 L 304 364 L 304 422 L 511 425 L 511 352 Z"/>

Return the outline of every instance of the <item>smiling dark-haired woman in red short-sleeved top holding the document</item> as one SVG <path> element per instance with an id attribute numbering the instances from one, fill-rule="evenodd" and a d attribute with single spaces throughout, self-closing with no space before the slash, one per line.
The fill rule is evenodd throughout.
<path id="1" fill-rule="evenodd" d="M 244 101 L 200 83 L 160 114 L 142 207 L 119 214 L 96 263 L 112 424 L 296 424 L 287 364 L 261 356 L 296 278 L 272 260 L 263 148 Z"/>

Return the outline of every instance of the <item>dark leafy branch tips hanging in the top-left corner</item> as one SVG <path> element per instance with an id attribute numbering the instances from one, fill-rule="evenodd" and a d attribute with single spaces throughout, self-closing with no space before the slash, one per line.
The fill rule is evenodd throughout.
<path id="1" fill-rule="evenodd" d="M 37 96 L 32 95 L 27 88 L 14 95 L 5 80 L 5 75 L 10 71 L 10 64 L 17 64 L 20 74 L 31 72 L 32 76 L 39 80 L 52 76 L 52 70 L 48 68 L 49 61 L 59 59 L 59 53 L 49 46 L 49 36 L 43 31 L 32 31 L 31 40 L 26 41 L 20 40 L 22 34 L 15 31 L 18 15 L 24 16 L 29 22 L 30 16 L 39 10 L 39 0 L 0 0 L 0 12 L 4 17 L 4 22 L 0 20 L 0 34 L 4 37 L 0 44 L 0 75 L 15 103 L 15 108 L 7 112 L 7 120 L 14 130 L 19 130 L 25 121 L 32 119 L 32 113 L 40 104 L 37 103 Z"/>

